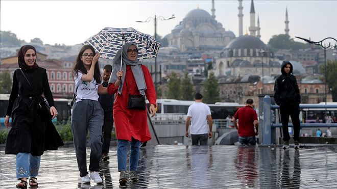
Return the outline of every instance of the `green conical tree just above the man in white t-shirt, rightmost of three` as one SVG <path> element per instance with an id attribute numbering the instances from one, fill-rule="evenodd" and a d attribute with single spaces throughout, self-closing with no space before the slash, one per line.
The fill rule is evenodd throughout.
<path id="1" fill-rule="evenodd" d="M 213 72 L 210 72 L 208 78 L 205 80 L 203 84 L 203 101 L 205 103 L 215 103 L 220 101 L 219 99 L 219 83 L 218 79 L 216 79 Z"/>

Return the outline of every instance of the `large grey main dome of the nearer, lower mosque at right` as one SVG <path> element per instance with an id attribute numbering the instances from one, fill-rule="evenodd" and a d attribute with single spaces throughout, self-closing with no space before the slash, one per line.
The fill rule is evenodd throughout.
<path id="1" fill-rule="evenodd" d="M 225 48 L 255 48 L 264 49 L 266 44 L 264 44 L 259 38 L 254 36 L 240 36 L 233 39 Z"/>

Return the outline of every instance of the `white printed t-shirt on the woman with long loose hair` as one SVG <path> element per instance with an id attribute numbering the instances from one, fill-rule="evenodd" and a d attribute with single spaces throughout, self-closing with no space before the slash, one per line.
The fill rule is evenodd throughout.
<path id="1" fill-rule="evenodd" d="M 98 101 L 98 86 L 96 80 L 92 78 L 91 82 L 84 82 L 82 78 L 83 73 L 78 72 L 77 76 L 74 75 L 75 80 L 75 90 L 76 92 L 76 102 L 81 101 L 82 99 Z M 79 86 L 77 88 L 77 86 Z"/>

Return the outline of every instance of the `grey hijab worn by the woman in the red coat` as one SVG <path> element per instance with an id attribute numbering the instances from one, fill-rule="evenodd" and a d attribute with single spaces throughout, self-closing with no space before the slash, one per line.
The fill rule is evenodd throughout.
<path id="1" fill-rule="evenodd" d="M 131 45 L 136 46 L 134 43 L 129 42 L 129 43 L 126 43 L 123 46 L 123 52 L 122 52 L 122 48 L 117 51 L 117 53 L 115 55 L 115 58 L 113 60 L 113 70 L 112 70 L 112 73 L 111 73 L 109 83 L 114 83 L 117 80 L 116 73 L 121 68 L 121 54 L 122 54 L 122 57 L 123 57 L 122 70 L 123 70 L 124 74 L 122 76 L 121 84 L 119 84 L 119 87 L 118 87 L 118 93 L 122 94 L 122 89 L 123 89 L 125 75 L 126 75 L 126 66 L 129 65 L 129 66 L 131 66 L 131 71 L 132 71 L 133 76 L 136 80 L 136 85 L 137 85 L 137 88 L 139 90 L 139 93 L 142 96 L 144 96 L 145 90 L 147 89 L 147 87 L 146 87 L 146 84 L 145 84 L 145 78 L 144 78 L 143 70 L 141 69 L 141 63 L 138 61 L 138 59 L 136 59 L 135 61 L 131 61 L 131 60 L 128 59 L 128 49 Z M 136 48 L 137 48 L 137 46 L 136 46 Z M 137 48 L 137 50 L 138 50 L 138 48 Z"/>

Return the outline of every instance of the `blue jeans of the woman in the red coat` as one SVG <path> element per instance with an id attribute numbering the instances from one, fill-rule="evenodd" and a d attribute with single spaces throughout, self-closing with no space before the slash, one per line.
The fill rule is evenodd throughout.
<path id="1" fill-rule="evenodd" d="M 118 172 L 126 171 L 126 161 L 127 161 L 127 150 L 128 150 L 127 140 L 118 140 L 117 144 L 117 161 L 118 161 Z M 141 142 L 133 139 L 130 142 L 130 171 L 137 171 L 138 161 L 139 161 L 139 150 Z"/>

